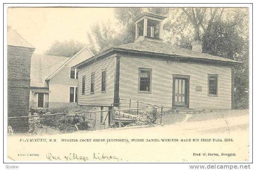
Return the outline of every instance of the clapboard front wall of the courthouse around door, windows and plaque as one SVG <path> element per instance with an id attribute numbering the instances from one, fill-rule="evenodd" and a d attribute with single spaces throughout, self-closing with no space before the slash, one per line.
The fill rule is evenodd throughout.
<path id="1" fill-rule="evenodd" d="M 139 68 L 152 69 L 151 93 L 138 92 Z M 231 68 L 181 62 L 168 65 L 145 57 L 120 57 L 119 97 L 172 107 L 172 74 L 190 76 L 190 108 L 231 109 Z M 208 96 L 208 74 L 218 74 L 218 96 Z M 202 86 L 202 91 L 196 91 L 196 86 Z"/>

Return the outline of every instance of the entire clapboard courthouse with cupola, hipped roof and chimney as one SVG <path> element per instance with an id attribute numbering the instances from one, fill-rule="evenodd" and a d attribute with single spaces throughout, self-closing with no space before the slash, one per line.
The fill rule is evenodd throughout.
<path id="1" fill-rule="evenodd" d="M 99 111 L 121 98 L 172 108 L 233 108 L 233 67 L 240 62 L 202 53 L 200 41 L 192 43 L 192 50 L 162 42 L 165 18 L 142 13 L 134 19 L 133 43 L 112 47 L 77 64 L 78 104 L 97 106 Z M 120 102 L 123 108 L 129 107 Z M 98 114 L 98 119 L 106 114 Z"/>

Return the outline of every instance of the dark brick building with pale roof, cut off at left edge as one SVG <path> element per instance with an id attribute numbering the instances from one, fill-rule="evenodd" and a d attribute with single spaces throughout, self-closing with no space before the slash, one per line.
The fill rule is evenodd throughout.
<path id="1" fill-rule="evenodd" d="M 7 117 L 28 116 L 30 62 L 35 48 L 7 28 Z M 28 118 L 8 119 L 14 132 L 28 131 Z"/>

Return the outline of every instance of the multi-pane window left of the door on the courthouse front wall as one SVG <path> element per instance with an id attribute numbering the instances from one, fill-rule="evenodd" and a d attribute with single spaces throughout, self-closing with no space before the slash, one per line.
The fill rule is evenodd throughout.
<path id="1" fill-rule="evenodd" d="M 139 68 L 139 92 L 151 92 L 152 69 Z"/>

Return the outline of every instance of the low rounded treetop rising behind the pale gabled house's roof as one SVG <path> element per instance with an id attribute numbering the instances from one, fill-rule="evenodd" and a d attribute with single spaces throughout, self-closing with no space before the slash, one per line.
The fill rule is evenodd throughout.
<path id="1" fill-rule="evenodd" d="M 44 52 L 47 55 L 53 56 L 65 56 L 65 57 L 72 57 L 78 51 L 80 51 L 85 45 L 81 42 L 69 40 L 69 41 L 54 41 L 52 46 Z"/>

